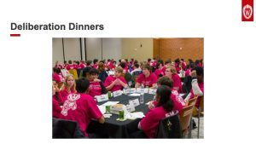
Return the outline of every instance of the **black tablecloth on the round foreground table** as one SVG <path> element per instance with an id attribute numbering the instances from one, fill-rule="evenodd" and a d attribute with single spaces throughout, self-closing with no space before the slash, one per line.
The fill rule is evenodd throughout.
<path id="1" fill-rule="evenodd" d="M 148 112 L 148 101 L 152 101 L 154 95 L 144 94 L 144 103 L 135 107 L 136 112 L 143 112 L 144 115 Z M 127 105 L 130 100 L 139 99 L 139 96 L 120 95 L 114 97 L 108 101 L 119 101 L 120 104 Z M 98 105 L 102 105 L 107 101 L 99 102 Z M 92 120 L 87 128 L 88 133 L 95 133 L 103 135 L 108 138 L 129 138 L 129 133 L 137 129 L 137 124 L 141 120 L 137 118 L 135 120 L 127 119 L 125 121 L 116 120 L 119 115 L 113 114 L 110 118 L 106 118 L 104 124 L 98 123 L 96 120 Z"/>

